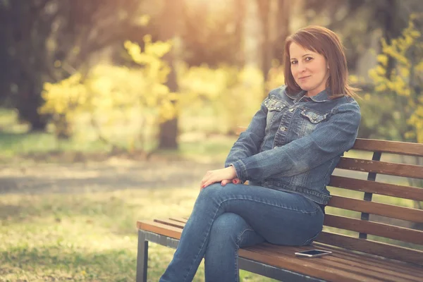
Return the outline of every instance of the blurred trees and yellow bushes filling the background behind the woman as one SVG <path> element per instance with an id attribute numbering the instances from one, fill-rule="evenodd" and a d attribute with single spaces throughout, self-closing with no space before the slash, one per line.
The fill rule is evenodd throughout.
<path id="1" fill-rule="evenodd" d="M 187 131 L 247 125 L 283 84 L 284 39 L 318 24 L 341 36 L 362 87 L 360 137 L 422 142 L 422 11 L 418 0 L 1 0 L 0 106 L 57 142 L 178 149 Z"/>

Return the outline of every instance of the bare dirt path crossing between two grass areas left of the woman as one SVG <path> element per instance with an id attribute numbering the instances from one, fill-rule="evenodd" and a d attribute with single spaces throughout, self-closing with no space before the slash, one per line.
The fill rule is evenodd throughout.
<path id="1" fill-rule="evenodd" d="M 0 166 L 0 193 L 80 193 L 200 186 L 208 170 L 223 164 L 192 161 L 108 159 L 75 164 Z"/>

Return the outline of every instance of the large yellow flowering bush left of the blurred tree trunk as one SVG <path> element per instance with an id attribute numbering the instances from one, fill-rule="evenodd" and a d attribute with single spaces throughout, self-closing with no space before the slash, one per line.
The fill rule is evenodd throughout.
<path id="1" fill-rule="evenodd" d="M 99 64 L 85 77 L 78 72 L 66 80 L 44 84 L 46 102 L 39 111 L 53 115 L 56 135 L 63 131 L 72 135 L 75 124 L 85 116 L 85 123 L 94 125 L 98 137 L 106 142 L 113 143 L 116 137 L 111 128 L 118 128 L 121 140 L 127 135 L 127 140 L 144 142 L 151 127 L 176 115 L 178 95 L 166 86 L 170 68 L 162 59 L 171 43 L 152 42 L 149 35 L 144 41 L 143 51 L 137 44 L 125 42 L 139 68 Z"/>

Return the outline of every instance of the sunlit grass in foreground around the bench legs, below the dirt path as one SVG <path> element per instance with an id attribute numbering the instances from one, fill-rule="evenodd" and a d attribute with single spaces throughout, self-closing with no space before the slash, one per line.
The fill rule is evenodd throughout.
<path id="1" fill-rule="evenodd" d="M 188 216 L 195 188 L 0 196 L 0 281 L 134 281 L 135 222 Z M 150 244 L 149 281 L 174 250 Z M 243 281 L 271 281 L 241 271 Z M 204 281 L 201 266 L 195 281 Z"/>

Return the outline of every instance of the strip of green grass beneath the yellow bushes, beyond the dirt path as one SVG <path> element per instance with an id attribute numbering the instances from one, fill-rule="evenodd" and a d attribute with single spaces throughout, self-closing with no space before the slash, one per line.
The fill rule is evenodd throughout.
<path id="1" fill-rule="evenodd" d="M 200 118 L 202 122 L 203 119 Z M 212 117 L 206 119 L 211 120 Z M 155 154 L 202 162 L 224 160 L 236 137 L 221 134 L 207 135 L 200 131 L 192 131 L 198 127 L 198 122 L 198 118 L 182 118 L 180 121 L 181 134 L 178 141 L 179 149 L 162 150 Z M 209 128 L 209 130 L 213 130 L 213 128 Z M 115 138 L 113 142 L 121 147 L 123 152 L 126 150 L 128 155 L 140 152 L 137 148 L 134 152 L 131 151 L 128 148 L 130 142 L 125 140 L 125 137 Z M 149 150 L 154 146 L 154 142 L 150 140 L 145 149 Z M 87 127 L 83 130 L 79 128 L 75 137 L 69 140 L 57 140 L 51 128 L 47 130 L 47 133 L 28 132 L 28 126 L 18 122 L 16 111 L 0 108 L 0 164 L 10 164 L 16 161 L 19 163 L 28 161 L 74 162 L 75 159 L 78 159 L 78 156 L 75 157 L 77 154 L 82 154 L 85 159 L 92 159 L 93 155 L 95 158 L 99 155 L 109 154 L 111 149 L 111 144 L 104 144 L 97 139 L 93 128 Z"/>

